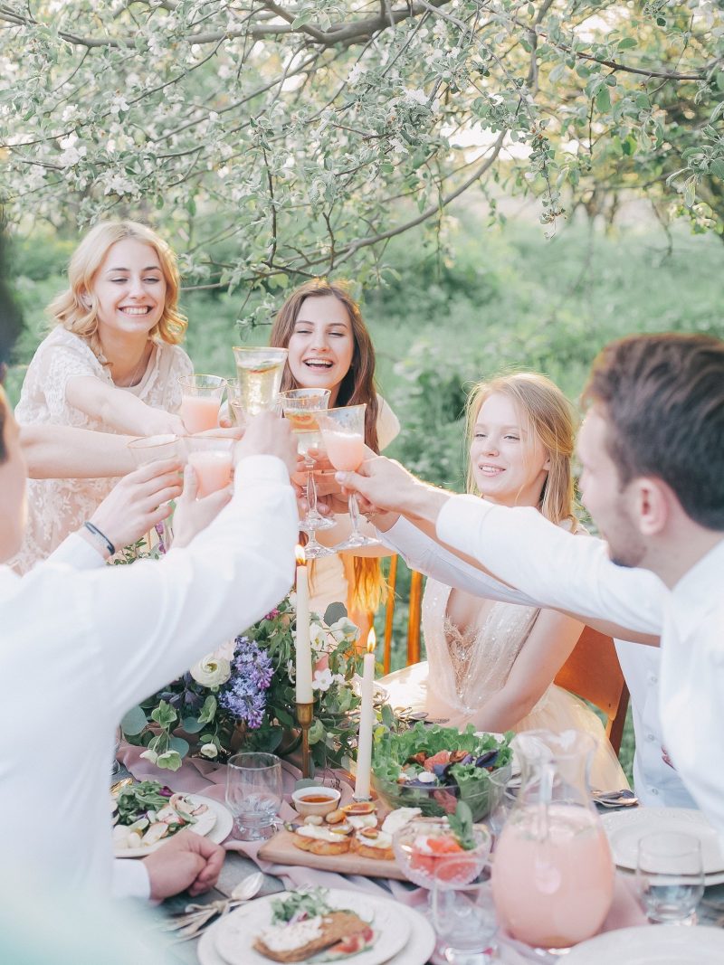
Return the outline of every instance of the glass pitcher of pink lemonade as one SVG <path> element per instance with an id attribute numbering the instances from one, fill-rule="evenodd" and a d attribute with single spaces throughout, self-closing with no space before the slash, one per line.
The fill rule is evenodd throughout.
<path id="1" fill-rule="evenodd" d="M 613 900 L 613 858 L 588 786 L 596 742 L 582 731 L 524 731 L 511 746 L 521 786 L 494 852 L 498 923 L 562 951 L 595 935 Z"/>

